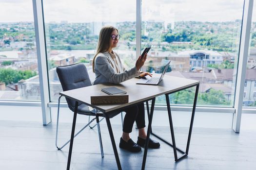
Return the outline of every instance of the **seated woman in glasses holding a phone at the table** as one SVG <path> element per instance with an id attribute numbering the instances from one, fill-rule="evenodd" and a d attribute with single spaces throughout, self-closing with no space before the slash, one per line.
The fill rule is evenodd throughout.
<path id="1" fill-rule="evenodd" d="M 123 68 L 118 54 L 112 51 L 113 48 L 117 47 L 119 38 L 120 35 L 118 34 L 118 29 L 115 27 L 105 26 L 100 30 L 97 53 L 93 58 L 93 71 L 96 75 L 95 81 L 93 82 L 94 85 L 100 83 L 118 84 L 136 76 L 152 76 L 152 74 L 148 72 L 140 73 L 139 71 L 144 65 L 147 56 L 143 58 L 139 56 L 135 67 L 129 70 Z M 144 104 L 140 103 L 135 106 L 130 106 L 123 111 L 126 112 L 126 115 L 123 121 L 123 133 L 120 138 L 119 147 L 130 152 L 139 152 L 141 151 L 141 147 L 144 147 L 145 139 L 147 137 L 145 132 Z M 137 143 L 135 143 L 129 136 L 135 121 L 138 127 Z M 160 144 L 159 142 L 150 139 L 148 147 L 159 148 Z"/>

